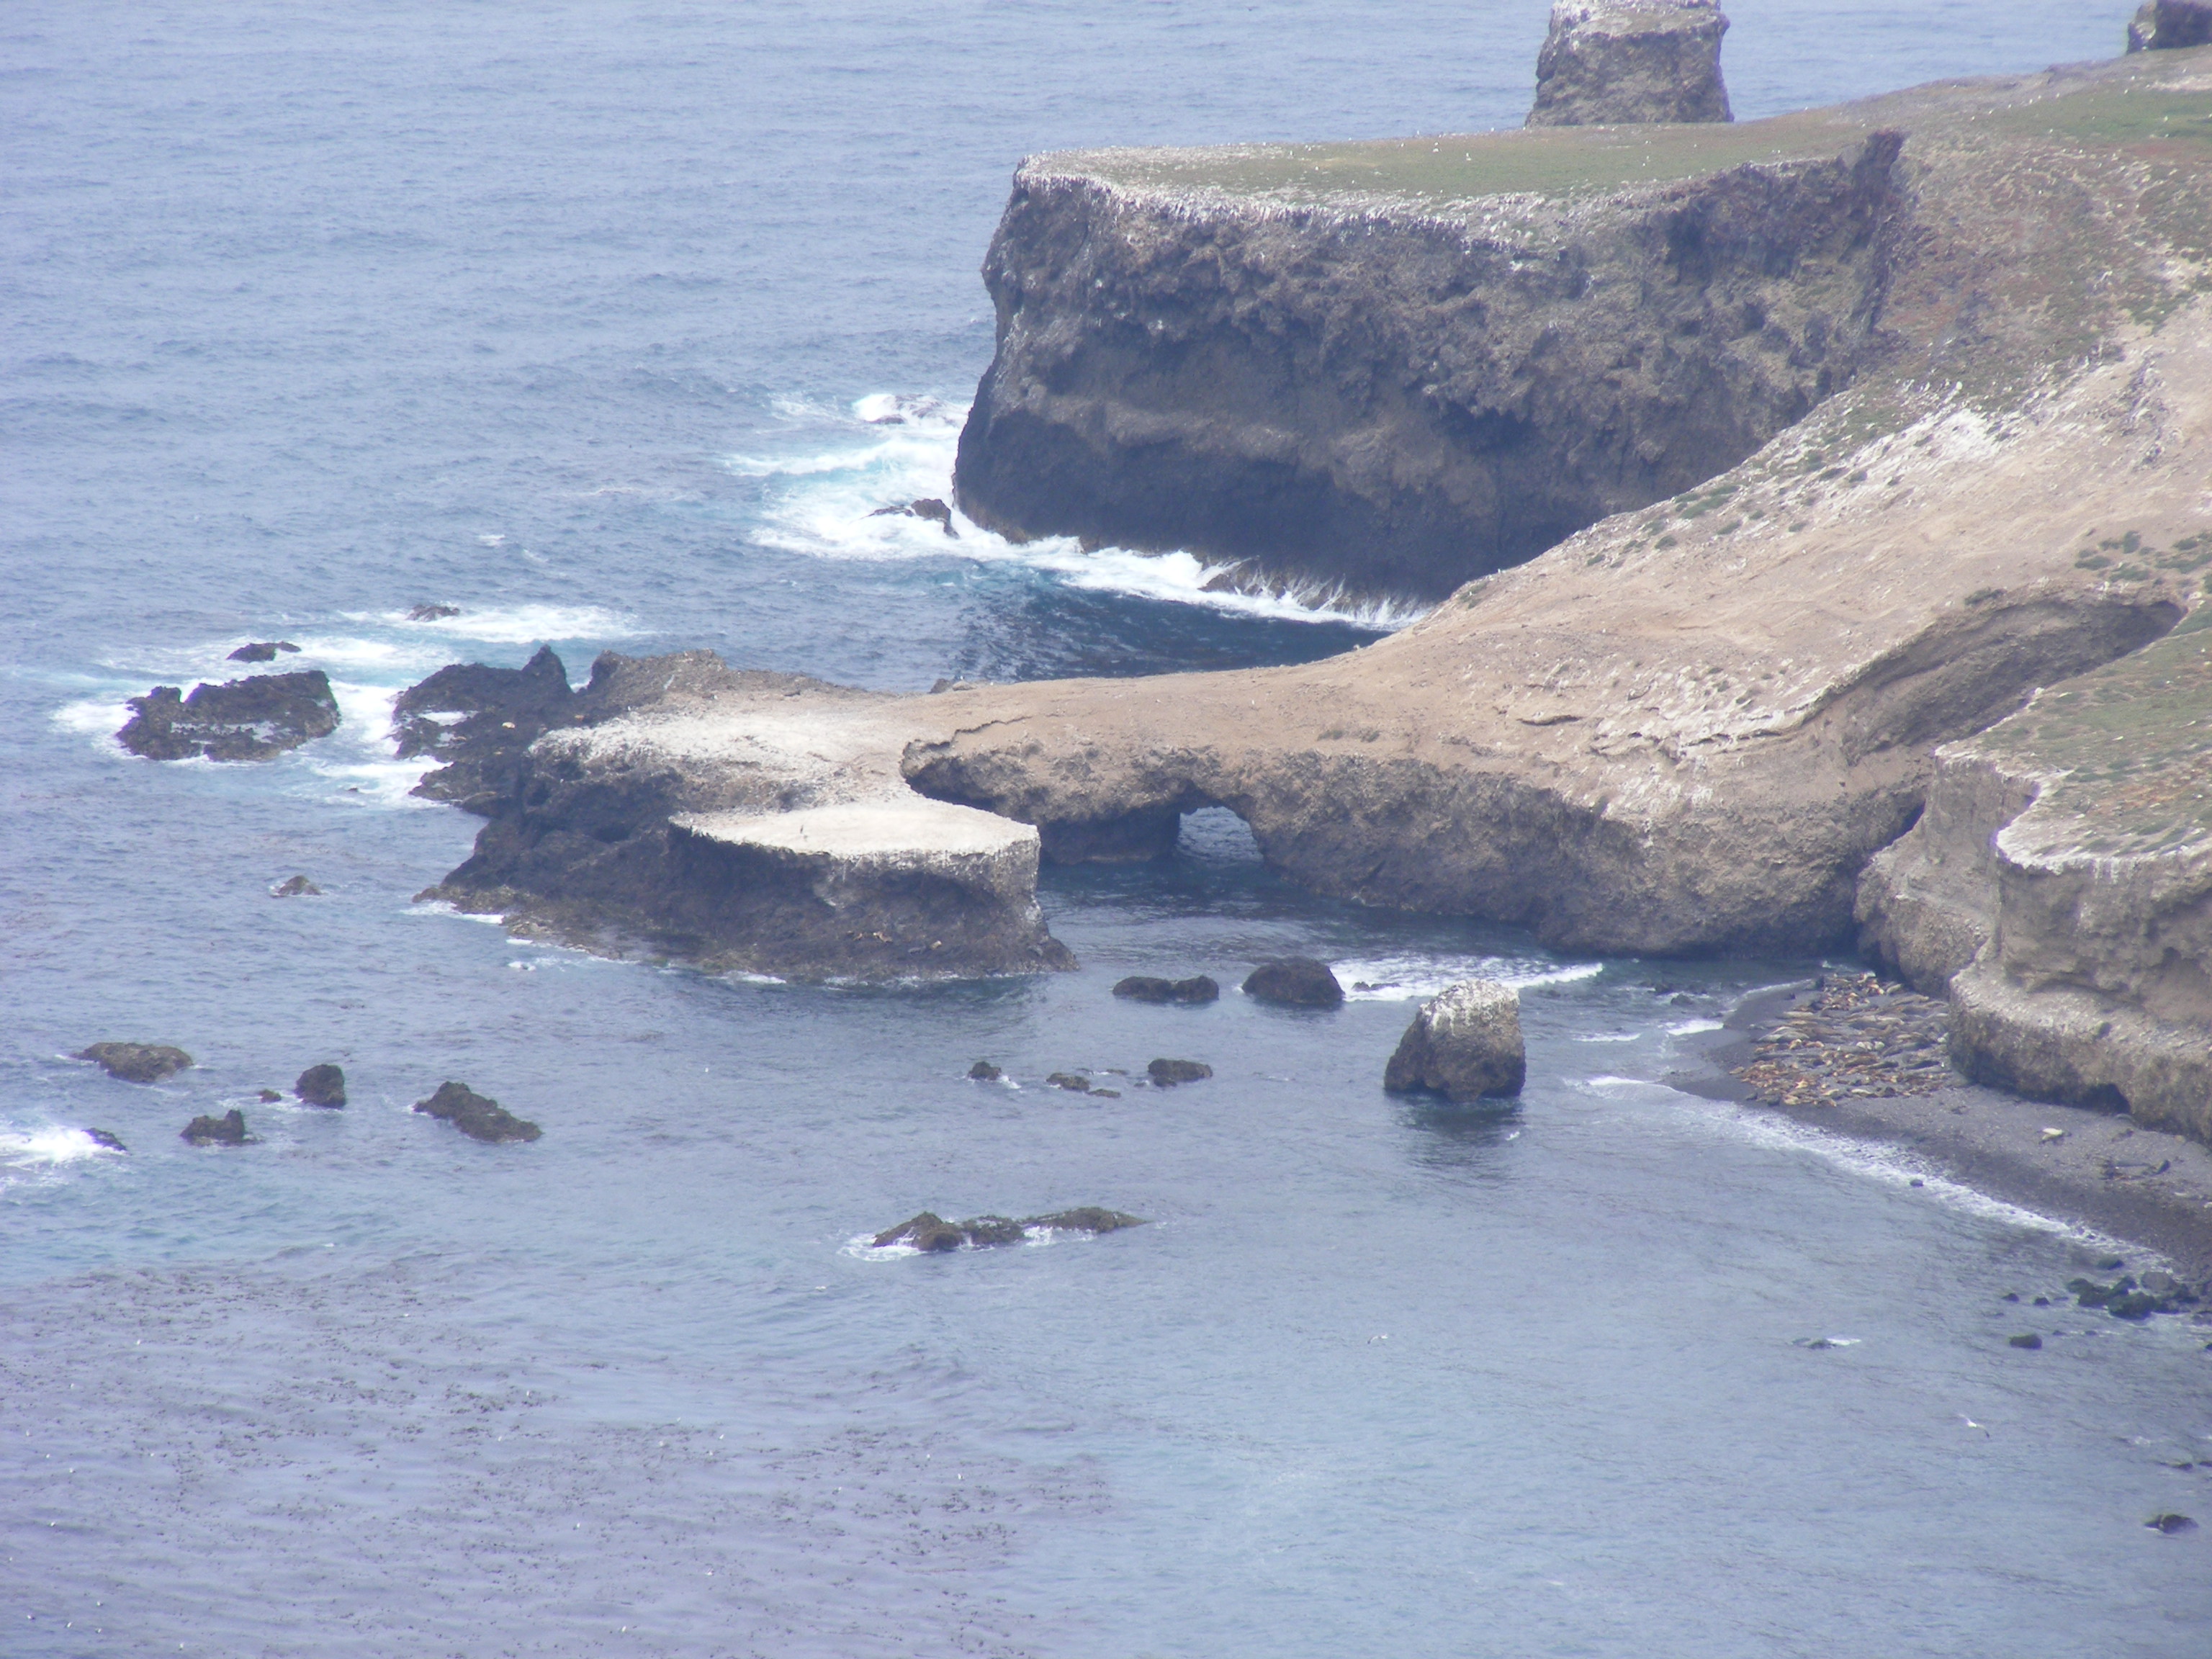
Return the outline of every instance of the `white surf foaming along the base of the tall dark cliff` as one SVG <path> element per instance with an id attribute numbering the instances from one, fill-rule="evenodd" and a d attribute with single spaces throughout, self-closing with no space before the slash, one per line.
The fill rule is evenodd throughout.
<path id="1" fill-rule="evenodd" d="M 922 498 L 951 502 L 964 407 L 874 392 L 849 411 L 838 411 L 838 418 L 796 403 L 779 405 L 779 411 L 814 427 L 805 434 L 807 449 L 726 456 L 721 465 L 763 484 L 754 540 L 785 553 L 1015 564 L 1055 575 L 1073 588 L 1285 622 L 1402 628 L 1427 615 L 1427 606 L 1347 602 L 1325 584 L 1290 586 L 1283 593 L 1210 591 L 1208 584 L 1221 577 L 1219 566 L 1201 564 L 1190 553 L 1133 553 L 1117 546 L 1086 553 L 1071 535 L 1015 544 L 960 511 L 951 513 L 956 535 L 947 535 L 933 520 L 880 509 Z M 827 447 L 818 431 L 823 425 L 841 427 Z"/>

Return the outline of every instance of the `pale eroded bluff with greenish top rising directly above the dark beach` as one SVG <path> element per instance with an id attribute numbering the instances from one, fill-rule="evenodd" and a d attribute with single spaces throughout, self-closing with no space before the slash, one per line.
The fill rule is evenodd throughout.
<path id="1" fill-rule="evenodd" d="M 2212 566 L 2203 531 L 2106 542 Z M 1940 750 L 1858 909 L 1869 951 L 1949 989 L 1971 1075 L 2212 1139 L 2212 608 Z"/>

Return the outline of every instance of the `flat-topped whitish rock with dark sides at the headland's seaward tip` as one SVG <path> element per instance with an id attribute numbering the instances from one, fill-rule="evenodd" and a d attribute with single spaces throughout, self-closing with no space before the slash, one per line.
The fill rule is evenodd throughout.
<path id="1" fill-rule="evenodd" d="M 507 675 L 504 679 L 500 675 Z M 900 699 L 712 653 L 445 668 L 398 703 L 420 794 L 491 823 L 427 898 L 606 949 L 787 978 L 953 978 L 1071 967 L 1037 909 L 1031 825 L 914 794 Z"/>

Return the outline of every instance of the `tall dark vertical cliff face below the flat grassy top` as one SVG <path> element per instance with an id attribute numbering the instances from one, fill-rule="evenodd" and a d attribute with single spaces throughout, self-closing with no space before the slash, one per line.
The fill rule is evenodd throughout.
<path id="1" fill-rule="evenodd" d="M 1232 195 L 1157 155 L 1029 161 L 984 263 L 998 354 L 960 507 L 1015 540 L 1433 599 L 1703 482 L 1880 347 L 1900 139 L 1785 137 L 1814 153 L 1754 142 L 1686 181 L 1458 204 Z M 1502 148 L 1475 170 L 1506 184 L 1648 164 L 1584 133 L 1451 144 Z"/>

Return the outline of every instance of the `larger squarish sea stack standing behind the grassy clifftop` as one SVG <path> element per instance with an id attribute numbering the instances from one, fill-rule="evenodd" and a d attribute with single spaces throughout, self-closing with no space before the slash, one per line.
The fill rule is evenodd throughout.
<path id="1" fill-rule="evenodd" d="M 1730 122 L 1714 0 L 1557 0 L 1528 126 Z"/>

